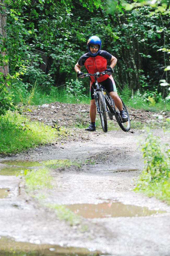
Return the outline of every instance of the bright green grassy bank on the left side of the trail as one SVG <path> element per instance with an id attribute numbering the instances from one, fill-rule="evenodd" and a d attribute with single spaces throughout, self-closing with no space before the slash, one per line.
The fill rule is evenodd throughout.
<path id="1" fill-rule="evenodd" d="M 0 153 L 16 153 L 38 145 L 55 141 L 66 135 L 65 130 L 56 131 L 40 122 L 8 112 L 0 117 Z"/>

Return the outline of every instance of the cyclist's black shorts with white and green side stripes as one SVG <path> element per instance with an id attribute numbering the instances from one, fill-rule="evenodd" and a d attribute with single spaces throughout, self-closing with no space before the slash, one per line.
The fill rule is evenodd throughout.
<path id="1" fill-rule="evenodd" d="M 117 92 L 115 82 L 112 75 L 110 75 L 106 80 L 99 82 L 108 92 Z M 90 82 L 90 100 L 94 100 L 93 88 L 96 89 L 95 82 Z"/>

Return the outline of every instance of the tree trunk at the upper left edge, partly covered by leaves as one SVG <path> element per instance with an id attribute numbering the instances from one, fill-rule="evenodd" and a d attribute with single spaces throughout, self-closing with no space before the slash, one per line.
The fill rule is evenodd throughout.
<path id="1" fill-rule="evenodd" d="M 6 9 L 2 9 L 2 5 L 5 6 L 4 0 L 0 0 L 0 54 L 4 56 L 6 53 L 3 50 L 4 41 L 6 38 Z M 3 65 L 0 66 L 0 72 L 2 72 L 5 76 L 9 73 L 8 63 L 3 62 Z"/>

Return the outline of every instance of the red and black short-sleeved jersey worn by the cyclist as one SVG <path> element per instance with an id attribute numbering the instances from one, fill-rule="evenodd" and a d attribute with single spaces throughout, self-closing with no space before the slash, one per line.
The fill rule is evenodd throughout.
<path id="1" fill-rule="evenodd" d="M 102 72 L 107 68 L 107 63 L 112 59 L 112 55 L 108 53 L 107 51 L 99 51 L 98 55 L 96 57 L 92 57 L 90 53 L 83 54 L 78 64 L 80 66 L 85 65 L 87 72 L 90 74 L 98 72 Z M 109 75 L 101 75 L 99 78 L 97 78 L 98 82 L 102 82 L 105 79 L 107 79 Z M 95 82 L 95 79 L 91 77 L 91 81 Z"/>

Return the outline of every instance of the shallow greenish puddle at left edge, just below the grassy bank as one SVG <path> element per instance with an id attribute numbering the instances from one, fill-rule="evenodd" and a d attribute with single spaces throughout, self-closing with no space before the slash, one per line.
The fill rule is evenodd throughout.
<path id="1" fill-rule="evenodd" d="M 68 159 L 56 159 L 45 161 L 5 161 L 0 166 L 0 175 L 16 175 L 22 170 L 31 170 L 36 167 L 46 166 L 49 168 L 58 168 L 62 166 L 69 166 L 71 162 Z"/>

